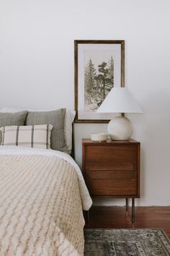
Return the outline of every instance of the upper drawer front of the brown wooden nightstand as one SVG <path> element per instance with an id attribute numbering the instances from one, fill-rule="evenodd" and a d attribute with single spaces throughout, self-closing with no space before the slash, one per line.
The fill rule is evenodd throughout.
<path id="1" fill-rule="evenodd" d="M 136 170 L 136 145 L 86 145 L 84 170 Z"/>

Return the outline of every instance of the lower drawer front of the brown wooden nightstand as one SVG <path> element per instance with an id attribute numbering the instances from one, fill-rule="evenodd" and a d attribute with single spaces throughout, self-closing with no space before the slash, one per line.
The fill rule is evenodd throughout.
<path id="1" fill-rule="evenodd" d="M 123 179 L 123 172 L 125 173 Z M 90 195 L 135 196 L 138 194 L 136 171 L 94 171 L 86 172 L 86 185 Z"/>

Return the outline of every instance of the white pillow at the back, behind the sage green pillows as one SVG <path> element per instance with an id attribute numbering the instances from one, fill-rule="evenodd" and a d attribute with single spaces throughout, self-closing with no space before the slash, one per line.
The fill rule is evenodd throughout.
<path id="1" fill-rule="evenodd" d="M 35 109 L 22 109 L 22 108 L 0 108 L 1 113 L 15 113 L 19 111 L 50 111 L 48 110 L 35 110 Z M 71 154 L 72 150 L 72 125 L 73 125 L 73 120 L 76 116 L 76 111 L 70 111 L 68 108 L 66 108 L 66 116 L 64 120 L 64 137 L 65 137 L 65 142 L 66 142 L 66 147 L 68 148 L 68 153 Z"/>

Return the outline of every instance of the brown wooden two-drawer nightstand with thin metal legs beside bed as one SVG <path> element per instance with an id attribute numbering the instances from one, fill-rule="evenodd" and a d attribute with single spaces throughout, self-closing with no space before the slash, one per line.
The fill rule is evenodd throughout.
<path id="1" fill-rule="evenodd" d="M 135 198 L 140 197 L 140 142 L 83 139 L 83 174 L 91 197 L 132 198 L 132 222 Z"/>

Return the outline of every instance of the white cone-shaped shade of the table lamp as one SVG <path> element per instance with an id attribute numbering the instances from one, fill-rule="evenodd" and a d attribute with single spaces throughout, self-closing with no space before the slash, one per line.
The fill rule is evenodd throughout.
<path id="1" fill-rule="evenodd" d="M 127 88 L 112 88 L 97 109 L 102 113 L 143 113 Z"/>

